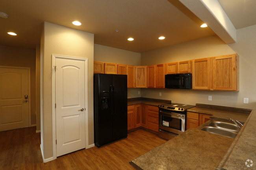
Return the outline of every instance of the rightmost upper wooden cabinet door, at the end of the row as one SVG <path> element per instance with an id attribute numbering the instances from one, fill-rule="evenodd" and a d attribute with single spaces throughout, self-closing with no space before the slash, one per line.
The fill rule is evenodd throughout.
<path id="1" fill-rule="evenodd" d="M 238 91 L 237 54 L 213 57 L 213 90 Z"/>

